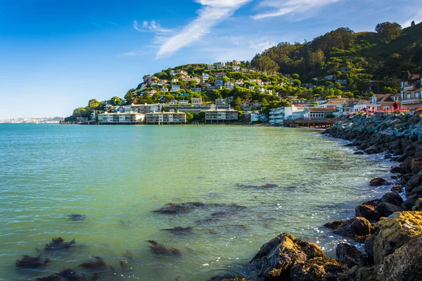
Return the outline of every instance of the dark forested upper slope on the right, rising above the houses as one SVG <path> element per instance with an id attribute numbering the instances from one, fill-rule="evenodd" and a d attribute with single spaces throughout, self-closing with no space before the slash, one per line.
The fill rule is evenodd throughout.
<path id="1" fill-rule="evenodd" d="M 347 79 L 347 88 L 354 93 L 362 92 L 362 81 L 394 79 L 391 86 L 397 90 L 404 71 L 422 70 L 421 39 L 421 23 L 412 22 L 411 27 L 402 29 L 395 22 L 384 22 L 376 26 L 376 32 L 338 28 L 304 44 L 280 43 L 257 54 L 252 66 L 267 72 L 296 73 L 305 83 L 333 75 L 334 79 Z"/>

